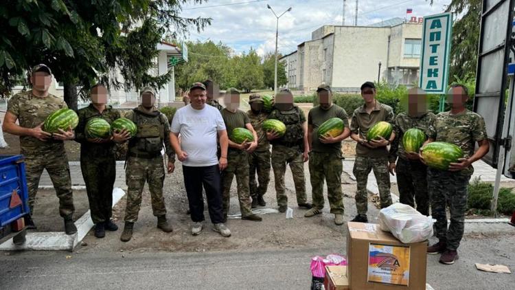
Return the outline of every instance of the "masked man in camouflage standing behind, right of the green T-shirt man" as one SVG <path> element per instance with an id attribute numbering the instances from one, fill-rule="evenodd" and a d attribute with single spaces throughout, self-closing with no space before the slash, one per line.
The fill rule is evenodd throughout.
<path id="1" fill-rule="evenodd" d="M 266 139 L 266 133 L 263 130 L 263 122 L 266 121 L 268 113 L 263 111 L 263 99 L 257 93 L 249 96 L 249 104 L 251 109 L 247 111 L 252 127 L 258 135 L 258 148 L 254 152 L 249 153 L 249 181 L 252 197 L 252 208 L 258 205 L 265 206 L 266 202 L 263 195 L 268 188 L 270 181 L 270 144 Z M 258 173 L 258 183 L 255 180 L 255 174 Z"/>

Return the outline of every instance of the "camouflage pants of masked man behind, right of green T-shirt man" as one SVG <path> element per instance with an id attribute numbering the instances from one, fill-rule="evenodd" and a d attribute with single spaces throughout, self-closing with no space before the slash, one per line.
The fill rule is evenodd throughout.
<path id="1" fill-rule="evenodd" d="M 252 199 L 263 196 L 270 182 L 270 150 L 260 151 L 249 154 L 249 187 Z M 258 182 L 255 175 L 258 173 Z"/>

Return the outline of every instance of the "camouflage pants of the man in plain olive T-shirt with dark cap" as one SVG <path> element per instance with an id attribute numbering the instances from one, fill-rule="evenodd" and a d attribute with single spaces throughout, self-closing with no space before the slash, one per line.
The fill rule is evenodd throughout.
<path id="1" fill-rule="evenodd" d="M 341 191 L 341 157 L 335 153 L 310 153 L 310 179 L 313 190 L 313 207 L 323 208 L 323 180 L 328 184 L 328 200 L 332 214 L 343 214 Z"/>

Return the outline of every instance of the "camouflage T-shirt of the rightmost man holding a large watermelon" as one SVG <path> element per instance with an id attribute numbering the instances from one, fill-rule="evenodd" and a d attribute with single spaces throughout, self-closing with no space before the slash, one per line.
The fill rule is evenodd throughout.
<path id="1" fill-rule="evenodd" d="M 474 155 L 476 142 L 488 138 L 483 117 L 468 109 L 457 115 L 450 111 L 439 113 L 435 126 L 436 141 L 456 144 L 463 150 L 465 158 Z M 461 171 L 463 175 L 472 175 L 473 172 L 472 166 Z"/>

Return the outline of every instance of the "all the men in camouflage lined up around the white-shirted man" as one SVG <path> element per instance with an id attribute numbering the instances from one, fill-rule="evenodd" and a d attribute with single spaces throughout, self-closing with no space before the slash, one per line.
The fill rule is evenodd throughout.
<path id="1" fill-rule="evenodd" d="M 113 132 L 106 139 L 92 138 L 84 133 L 91 118 L 102 118 L 111 123 L 120 118 L 119 111 L 107 105 L 106 87 L 95 85 L 91 89 L 91 104 L 78 111 L 79 124 L 75 131 L 60 130 L 50 134 L 43 131 L 45 118 L 65 108 L 65 102 L 48 93 L 52 82 L 52 72 L 46 65 L 36 65 L 30 77 L 32 90 L 17 93 L 8 102 L 8 111 L 3 122 L 3 130 L 20 136 L 21 153 L 25 155 L 27 186 L 30 196 L 30 210 L 34 201 L 38 182 L 43 169 L 49 173 L 59 198 L 60 215 L 65 221 L 65 232 L 77 232 L 73 224 L 73 197 L 69 164 L 63 141 L 76 140 L 81 144 L 80 165 L 91 209 L 91 219 L 95 223 L 95 236 L 102 238 L 105 231 L 117 230 L 112 217 L 112 192 L 115 181 L 115 153 L 128 142 L 126 183 L 128 186 L 124 231 L 120 239 L 129 241 L 133 236 L 133 225 L 137 221 L 141 205 L 141 193 L 148 183 L 152 199 L 152 211 L 157 216 L 157 227 L 163 232 L 172 232 L 166 219 L 163 199 L 165 169 L 174 171 L 175 153 L 171 145 L 170 122 L 155 106 L 155 91 L 146 87 L 141 90 L 141 104 L 130 111 L 125 118 L 137 126 L 137 135 L 131 138 L 127 131 Z M 201 84 L 202 85 L 202 84 Z M 236 128 L 245 128 L 253 134 L 253 141 L 237 144 L 229 139 L 227 156 L 225 151 L 220 160 L 227 160 L 222 170 L 221 188 L 223 221 L 227 221 L 230 205 L 230 189 L 236 176 L 238 201 L 242 219 L 262 221 L 252 209 L 266 205 L 264 194 L 268 189 L 270 171 L 273 170 L 275 192 L 279 212 L 288 209 L 285 174 L 290 166 L 295 183 L 297 205 L 311 217 L 322 213 L 324 207 L 323 182 L 327 183 L 330 212 L 334 223 L 342 225 L 343 192 L 341 175 L 343 170 L 341 143 L 347 137 L 356 142 L 356 160 L 353 172 L 357 181 L 355 222 L 367 222 L 367 179 L 371 170 L 376 175 L 381 208 L 391 205 L 389 174 L 397 174 L 400 201 L 422 214 L 431 214 L 437 220 L 436 236 L 439 242 L 428 247 L 431 254 L 441 253 L 440 261 L 454 263 L 457 247 L 464 232 L 464 214 L 467 200 L 467 184 L 472 175 L 472 162 L 481 159 L 488 152 L 488 140 L 483 118 L 465 107 L 468 91 L 463 85 L 453 85 L 448 92 L 450 111 L 435 115 L 428 111 L 424 91 L 411 89 L 407 98 L 406 111 L 397 116 L 393 109 L 376 100 L 376 87 L 373 82 L 361 86 L 364 104 L 352 113 L 351 122 L 344 109 L 334 104 L 332 89 L 325 84 L 317 88 L 319 105 L 310 109 L 308 118 L 302 109 L 293 102 L 293 93 L 282 89 L 275 96 L 271 112 L 264 110 L 264 100 L 259 94 L 249 96 L 251 109 L 241 111 L 240 93 L 227 89 L 225 105 L 218 102 L 218 92 L 214 83 L 207 80 L 203 86 L 206 103 L 216 107 L 222 115 L 229 135 Z M 344 129 L 338 136 L 319 136 L 319 126 L 331 118 L 339 118 Z M 265 131 L 265 120 L 279 120 L 286 125 L 286 132 Z M 16 124 L 16 121 L 19 124 Z M 170 121 L 170 122 L 169 122 Z M 367 140 L 367 132 L 380 121 L 389 122 L 393 133 L 389 138 Z M 449 170 L 428 168 L 420 153 L 408 153 L 400 140 L 411 128 L 426 134 L 427 141 L 442 141 L 456 144 L 464 151 L 464 158 L 450 164 Z M 474 151 L 475 144 L 478 149 Z M 162 150 L 168 162 L 165 165 Z M 304 163 L 309 162 L 312 203 L 308 202 Z M 257 175 L 257 179 L 256 179 Z M 450 225 L 447 227 L 446 205 L 450 208 Z M 227 229 L 226 229 L 227 230 Z M 228 234 L 230 235 L 230 234 Z M 25 232 L 14 239 L 14 243 L 24 243 Z"/>

